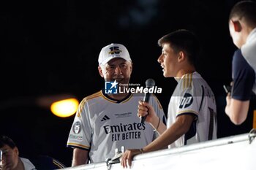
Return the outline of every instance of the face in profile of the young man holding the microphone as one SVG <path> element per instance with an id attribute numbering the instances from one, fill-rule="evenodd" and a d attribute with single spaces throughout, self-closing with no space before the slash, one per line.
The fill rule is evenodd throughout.
<path id="1" fill-rule="evenodd" d="M 173 51 L 170 44 L 162 46 L 162 54 L 157 60 L 162 66 L 164 77 L 176 77 L 178 73 L 178 53 Z"/>

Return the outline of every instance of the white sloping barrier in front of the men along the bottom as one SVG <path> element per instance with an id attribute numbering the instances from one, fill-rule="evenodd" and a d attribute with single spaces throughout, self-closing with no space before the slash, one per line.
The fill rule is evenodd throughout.
<path id="1" fill-rule="evenodd" d="M 176 149 L 159 150 L 135 156 L 132 170 L 255 170 L 256 130 Z M 65 170 L 122 170 L 120 163 L 91 163 Z"/>

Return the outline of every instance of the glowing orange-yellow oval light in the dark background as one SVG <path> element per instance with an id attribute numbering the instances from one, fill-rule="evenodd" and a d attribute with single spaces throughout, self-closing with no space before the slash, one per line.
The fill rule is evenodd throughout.
<path id="1" fill-rule="evenodd" d="M 50 111 L 58 117 L 69 117 L 74 115 L 78 109 L 78 100 L 76 98 L 67 98 L 61 101 L 53 102 L 50 105 Z"/>

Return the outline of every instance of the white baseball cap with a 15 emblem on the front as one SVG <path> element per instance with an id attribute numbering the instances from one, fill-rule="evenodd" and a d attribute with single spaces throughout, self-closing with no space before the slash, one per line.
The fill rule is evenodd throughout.
<path id="1" fill-rule="evenodd" d="M 99 53 L 99 65 L 108 63 L 113 58 L 124 58 L 124 60 L 131 62 L 132 59 L 129 57 L 129 52 L 124 45 L 112 43 L 102 48 Z"/>

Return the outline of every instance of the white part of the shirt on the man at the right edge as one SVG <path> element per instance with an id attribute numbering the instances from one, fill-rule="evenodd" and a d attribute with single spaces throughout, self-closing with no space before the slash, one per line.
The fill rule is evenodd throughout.
<path id="1" fill-rule="evenodd" d="M 246 43 L 241 47 L 241 53 L 256 72 L 256 28 L 247 36 Z M 252 90 L 256 94 L 256 82 Z"/>

